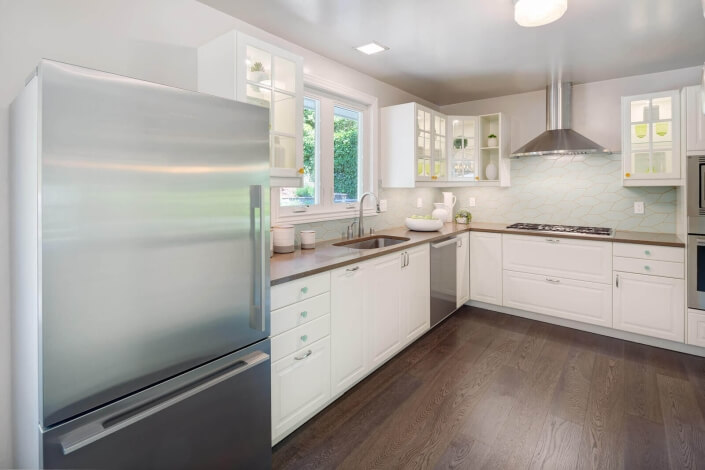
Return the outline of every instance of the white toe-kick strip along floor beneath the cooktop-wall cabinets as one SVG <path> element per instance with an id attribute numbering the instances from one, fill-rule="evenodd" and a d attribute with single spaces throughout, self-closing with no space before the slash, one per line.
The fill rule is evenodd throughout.
<path id="1" fill-rule="evenodd" d="M 652 338 L 650 336 L 631 333 L 629 331 L 615 330 L 613 328 L 608 328 L 605 326 L 590 325 L 589 323 L 582 323 L 575 320 L 566 320 L 564 318 L 552 317 L 550 315 L 529 312 L 526 310 L 520 310 L 518 308 L 487 304 L 485 302 L 478 302 L 476 300 L 471 300 L 465 305 L 468 305 L 470 307 L 483 308 L 485 310 L 492 310 L 494 312 L 499 313 L 506 313 L 507 315 L 515 315 L 517 317 L 528 318 L 529 320 L 536 320 L 544 323 L 551 323 L 553 325 L 565 326 L 566 328 L 587 331 L 589 333 L 595 333 L 598 335 L 610 336 L 612 338 L 623 339 L 625 341 L 631 341 L 634 343 L 646 344 L 648 346 L 654 346 L 657 348 L 670 349 L 671 351 L 677 351 L 685 354 L 692 354 L 694 356 L 705 357 L 705 348 L 701 348 L 699 346 L 677 343 L 675 341 L 669 341 L 661 338 Z"/>

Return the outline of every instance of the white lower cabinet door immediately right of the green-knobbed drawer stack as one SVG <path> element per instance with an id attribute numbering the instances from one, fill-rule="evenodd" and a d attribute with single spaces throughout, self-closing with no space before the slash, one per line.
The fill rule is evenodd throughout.
<path id="1" fill-rule="evenodd" d="M 331 272 L 331 384 L 333 395 L 347 390 L 367 373 L 365 289 L 369 263 Z"/>

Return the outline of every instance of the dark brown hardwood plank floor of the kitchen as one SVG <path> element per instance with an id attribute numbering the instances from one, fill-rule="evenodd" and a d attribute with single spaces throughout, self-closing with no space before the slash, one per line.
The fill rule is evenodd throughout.
<path id="1" fill-rule="evenodd" d="M 464 307 L 274 468 L 705 468 L 705 358 Z"/>

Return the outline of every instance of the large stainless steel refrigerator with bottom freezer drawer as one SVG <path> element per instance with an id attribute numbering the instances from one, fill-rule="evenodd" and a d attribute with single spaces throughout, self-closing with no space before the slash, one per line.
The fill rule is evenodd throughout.
<path id="1" fill-rule="evenodd" d="M 268 468 L 267 110 L 44 60 L 11 116 L 17 464 Z"/>

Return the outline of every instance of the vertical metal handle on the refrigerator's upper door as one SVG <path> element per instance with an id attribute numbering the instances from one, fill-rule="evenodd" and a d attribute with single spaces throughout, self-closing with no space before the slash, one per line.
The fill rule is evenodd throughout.
<path id="1" fill-rule="evenodd" d="M 267 244 L 267 234 L 264 231 L 264 195 L 262 193 L 262 185 L 250 186 L 250 221 L 252 224 L 253 242 L 258 248 L 255 250 L 255 276 L 252 286 L 253 305 L 250 312 L 250 326 L 260 331 L 266 331 L 266 312 L 265 305 L 267 302 L 267 276 L 264 266 L 264 260 L 268 258 L 265 253 L 265 245 Z M 257 223 L 259 224 L 259 233 L 255 234 L 255 210 L 259 210 Z M 259 244 L 259 245 L 258 245 Z M 259 286 L 257 285 L 259 282 Z"/>

